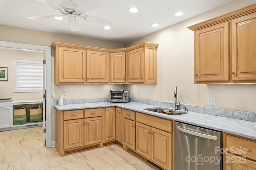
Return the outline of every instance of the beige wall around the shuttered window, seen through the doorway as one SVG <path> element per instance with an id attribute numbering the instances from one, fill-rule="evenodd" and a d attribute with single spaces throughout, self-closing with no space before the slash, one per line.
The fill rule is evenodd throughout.
<path id="1" fill-rule="evenodd" d="M 13 98 L 14 100 L 42 99 L 43 92 L 13 93 L 13 60 L 43 61 L 43 53 L 0 49 L 0 67 L 8 67 L 8 81 L 0 81 L 0 98 Z"/>

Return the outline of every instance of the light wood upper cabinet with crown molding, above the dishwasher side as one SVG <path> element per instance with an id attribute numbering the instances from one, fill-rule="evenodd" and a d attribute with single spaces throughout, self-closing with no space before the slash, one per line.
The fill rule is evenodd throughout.
<path id="1" fill-rule="evenodd" d="M 188 28 L 194 83 L 256 83 L 256 4 Z"/>

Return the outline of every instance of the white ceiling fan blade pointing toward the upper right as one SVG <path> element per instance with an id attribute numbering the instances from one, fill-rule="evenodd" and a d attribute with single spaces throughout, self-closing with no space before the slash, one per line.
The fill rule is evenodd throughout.
<path id="1" fill-rule="evenodd" d="M 103 4 L 98 0 L 86 0 L 86 3 L 83 2 L 82 4 L 76 7 L 76 10 L 79 11 L 81 14 L 92 11 L 96 8 L 102 7 Z M 78 9 L 80 8 L 80 10 Z"/>

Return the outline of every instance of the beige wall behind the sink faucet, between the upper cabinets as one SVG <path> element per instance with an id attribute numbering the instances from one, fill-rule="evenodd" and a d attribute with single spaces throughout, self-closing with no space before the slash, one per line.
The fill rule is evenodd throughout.
<path id="1" fill-rule="evenodd" d="M 256 84 L 194 84 L 193 31 L 187 27 L 256 1 L 236 1 L 190 20 L 126 44 L 141 41 L 159 43 L 157 50 L 157 84 L 126 85 L 131 97 L 174 103 L 174 87 L 178 87 L 181 104 L 256 112 Z M 215 97 L 215 106 L 206 105 L 206 96 Z"/>

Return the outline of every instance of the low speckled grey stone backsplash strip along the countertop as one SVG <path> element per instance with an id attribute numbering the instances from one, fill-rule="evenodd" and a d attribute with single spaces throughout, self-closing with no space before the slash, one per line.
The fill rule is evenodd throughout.
<path id="1" fill-rule="evenodd" d="M 109 102 L 109 98 L 63 100 L 64 105 L 66 105 L 66 104 L 98 103 L 98 102 Z M 160 101 L 155 101 L 155 100 L 130 98 L 130 102 L 154 105 L 156 107 L 174 108 L 174 103 L 160 102 Z M 54 100 L 54 105 L 58 105 L 58 100 Z M 256 113 L 181 104 L 180 109 L 184 110 L 183 107 L 187 107 L 188 111 L 192 111 L 192 112 L 256 122 Z"/>

